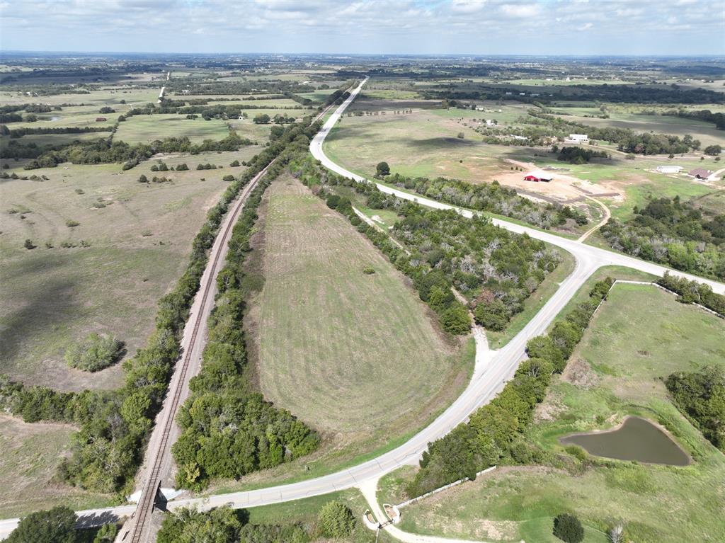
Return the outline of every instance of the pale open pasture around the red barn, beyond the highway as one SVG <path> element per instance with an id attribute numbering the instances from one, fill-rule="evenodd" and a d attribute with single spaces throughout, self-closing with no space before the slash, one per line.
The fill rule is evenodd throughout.
<path id="1" fill-rule="evenodd" d="M 396 91 L 385 92 L 392 93 L 392 96 Z M 684 173 L 663 175 L 653 171 L 657 166 L 665 164 L 681 165 L 684 172 L 695 167 L 716 171 L 722 167 L 722 162 L 716 162 L 713 157 L 701 159 L 700 154 L 689 154 L 674 159 L 659 156 L 626 159 L 623 153 L 617 152 L 612 146 L 600 145 L 599 148 L 610 152 L 610 160 L 569 165 L 558 162 L 555 155 L 544 148 L 484 144 L 481 135 L 473 130 L 481 123 L 481 119 L 495 119 L 500 125 L 516 124 L 520 117 L 526 115 L 527 106 L 524 104 L 500 105 L 491 101 L 477 103 L 484 111 L 420 109 L 424 106 L 430 107 L 430 104 L 427 101 L 394 101 L 386 98 L 386 94 L 376 98 L 376 93 L 384 91 L 369 91 L 367 97 L 363 95 L 354 104 L 357 109 L 368 112 L 380 109 L 377 115 L 343 117 L 325 142 L 326 153 L 331 159 L 360 175 L 373 175 L 377 163 L 386 161 L 393 173 L 411 177 L 443 176 L 472 183 L 495 179 L 517 190 L 541 193 L 558 199 L 581 197 L 581 191 L 571 186 L 571 183 L 584 188 L 588 185 L 589 191 L 619 194 L 616 198 L 607 200 L 613 216 L 618 219 L 629 217 L 635 205 L 646 204 L 647 199 L 653 196 L 672 197 L 679 194 L 681 197 L 693 197 L 725 189 L 723 181 L 702 183 L 693 181 Z M 407 107 L 413 107 L 413 113 L 394 113 Z M 574 114 L 565 117 L 567 120 L 579 120 L 584 117 L 576 115 L 584 115 L 590 108 L 564 109 Z M 385 115 L 382 111 L 385 111 Z M 685 120 L 677 117 L 633 115 L 625 112 L 617 115 L 646 117 L 651 122 L 665 123 L 653 125 L 655 131 L 666 131 L 669 130 L 668 127 L 674 127 L 669 130 L 670 133 L 679 133 L 678 130 L 686 128 L 692 133 L 690 128 L 694 127 L 702 132 L 695 132 L 695 137 L 702 136 L 705 141 L 710 134 L 720 137 L 721 144 L 725 144 L 725 133 L 715 130 L 708 123 L 683 123 Z M 674 123 L 670 123 L 670 120 L 674 120 Z M 459 133 L 463 134 L 463 138 L 457 137 Z M 517 165 L 528 165 L 526 167 L 553 167 L 564 184 L 560 185 L 560 181 L 552 183 L 551 186 L 522 183 L 521 174 L 511 171 L 510 161 L 515 161 Z"/>

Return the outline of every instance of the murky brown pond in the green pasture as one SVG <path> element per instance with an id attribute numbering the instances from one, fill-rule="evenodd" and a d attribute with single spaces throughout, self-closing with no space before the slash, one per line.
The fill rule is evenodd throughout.
<path id="1" fill-rule="evenodd" d="M 594 434 L 572 434 L 563 444 L 584 448 L 590 455 L 636 460 L 650 464 L 688 465 L 689 456 L 649 420 L 628 417 L 616 430 Z"/>

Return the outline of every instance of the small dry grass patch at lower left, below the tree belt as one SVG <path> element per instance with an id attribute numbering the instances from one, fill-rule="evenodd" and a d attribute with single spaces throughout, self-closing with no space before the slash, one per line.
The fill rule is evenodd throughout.
<path id="1" fill-rule="evenodd" d="M 25 424 L 0 415 L 0 518 L 13 518 L 51 505 L 88 509 L 110 505 L 114 497 L 91 494 L 55 480 L 70 450 L 71 426 Z"/>

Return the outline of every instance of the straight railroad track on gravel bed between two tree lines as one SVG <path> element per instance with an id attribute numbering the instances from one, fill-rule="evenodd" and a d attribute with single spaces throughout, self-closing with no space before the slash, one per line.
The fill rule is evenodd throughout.
<path id="1" fill-rule="evenodd" d="M 320 112 L 316 117 L 312 119 L 310 124 L 315 123 L 320 118 L 322 118 L 323 115 L 325 115 L 331 107 L 334 107 L 334 105 L 335 104 L 331 104 L 323 109 L 322 112 Z M 237 218 L 239 217 L 239 213 L 244 208 L 244 202 L 247 202 L 249 194 L 254 190 L 254 187 L 257 186 L 257 183 L 265 175 L 265 173 L 267 173 L 267 170 L 269 170 L 269 168 L 276 162 L 276 160 L 276 158 L 273 159 L 262 171 L 260 171 L 260 173 L 257 173 L 257 175 L 255 175 L 254 178 L 252 178 L 252 180 L 247 183 L 247 186 L 242 189 L 241 194 L 239 195 L 239 199 L 237 199 L 236 203 L 234 204 L 231 216 L 227 220 L 224 230 L 221 233 L 222 238 L 220 241 L 220 248 L 215 251 L 211 263 L 210 275 L 203 286 L 202 301 L 199 304 L 199 312 L 197 312 L 194 316 L 194 328 L 192 328 L 191 330 L 191 339 L 189 339 L 188 347 L 183 353 L 181 367 L 178 368 L 179 373 L 178 378 L 175 378 L 176 386 L 173 390 L 171 403 L 165 409 L 165 418 L 162 423 L 162 434 L 159 440 L 159 444 L 156 447 L 156 452 L 152 453 L 154 456 L 152 457 L 151 465 L 149 465 L 149 475 L 146 477 L 144 486 L 141 489 L 141 496 L 139 497 L 136 511 L 133 513 L 133 515 L 131 515 L 131 518 L 129 519 L 132 525 L 129 530 L 122 531 L 121 534 L 119 534 L 119 539 L 117 539 L 117 541 L 123 543 L 141 543 L 142 538 L 146 533 L 146 527 L 153 513 L 154 505 L 156 503 L 156 497 L 161 486 L 161 471 L 163 468 L 163 463 L 165 457 L 170 452 L 170 436 L 173 429 L 174 420 L 176 418 L 176 413 L 182 400 L 184 388 L 183 384 L 186 381 L 186 374 L 188 373 L 188 368 L 191 362 L 191 355 L 194 352 L 194 347 L 196 346 L 196 341 L 199 336 L 199 329 L 202 327 L 202 323 L 204 322 L 204 307 L 206 307 L 207 300 L 209 299 L 215 285 L 215 278 L 218 273 L 217 268 L 223 254 L 223 250 L 221 248 L 223 248 L 223 246 L 228 243 L 231 230 L 234 227 Z M 151 444 L 149 444 L 149 447 L 150 446 Z M 130 539 L 127 539 L 129 534 Z"/>

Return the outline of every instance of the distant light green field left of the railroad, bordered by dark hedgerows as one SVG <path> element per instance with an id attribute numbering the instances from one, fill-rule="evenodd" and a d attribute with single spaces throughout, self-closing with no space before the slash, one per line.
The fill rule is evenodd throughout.
<path id="1" fill-rule="evenodd" d="M 149 143 L 157 139 L 187 136 L 193 143 L 205 139 L 220 140 L 229 135 L 225 121 L 184 115 L 134 115 L 118 125 L 114 139 L 128 144 Z M 241 134 L 240 134 L 241 135 Z"/>

